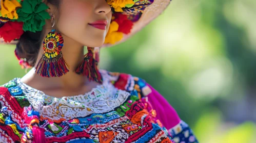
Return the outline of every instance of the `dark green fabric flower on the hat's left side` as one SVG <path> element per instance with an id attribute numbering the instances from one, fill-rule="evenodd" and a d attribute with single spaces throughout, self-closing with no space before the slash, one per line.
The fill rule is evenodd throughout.
<path id="1" fill-rule="evenodd" d="M 45 11 L 48 6 L 42 0 L 24 0 L 22 8 L 17 10 L 17 21 L 23 21 L 24 31 L 42 31 L 45 19 L 50 19 L 50 15 Z"/>

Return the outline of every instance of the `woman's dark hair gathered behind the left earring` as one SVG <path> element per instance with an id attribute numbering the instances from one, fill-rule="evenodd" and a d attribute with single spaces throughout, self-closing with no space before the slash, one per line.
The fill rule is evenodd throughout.
<path id="1" fill-rule="evenodd" d="M 46 2 L 60 8 L 60 0 L 46 0 Z M 40 50 L 41 41 L 44 38 L 45 30 L 39 32 L 26 31 L 19 38 L 16 44 L 17 55 L 20 58 L 26 58 L 30 66 L 34 66 L 38 52 Z"/>

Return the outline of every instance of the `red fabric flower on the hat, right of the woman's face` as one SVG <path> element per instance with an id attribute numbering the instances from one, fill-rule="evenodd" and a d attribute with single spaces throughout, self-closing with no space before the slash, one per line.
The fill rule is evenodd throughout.
<path id="1" fill-rule="evenodd" d="M 127 15 L 115 13 L 113 16 L 115 17 L 114 21 L 119 25 L 118 32 L 129 34 L 131 32 L 133 22 L 128 19 Z"/>

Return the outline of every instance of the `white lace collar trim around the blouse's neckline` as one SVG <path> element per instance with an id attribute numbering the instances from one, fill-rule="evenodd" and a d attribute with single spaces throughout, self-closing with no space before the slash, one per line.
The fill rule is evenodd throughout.
<path id="1" fill-rule="evenodd" d="M 33 108 L 40 112 L 41 118 L 53 121 L 71 120 L 92 113 L 105 113 L 122 105 L 130 96 L 129 92 L 116 89 L 108 79 L 107 71 L 100 70 L 103 84 L 91 91 L 77 96 L 55 98 L 43 91 L 22 83 L 20 78 L 14 81 L 21 87 Z"/>

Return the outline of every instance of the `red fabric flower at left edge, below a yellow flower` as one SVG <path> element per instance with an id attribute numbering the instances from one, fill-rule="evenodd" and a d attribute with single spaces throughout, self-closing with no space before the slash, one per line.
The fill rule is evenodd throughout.
<path id="1" fill-rule="evenodd" d="M 23 22 L 7 21 L 3 27 L 0 28 L 0 37 L 5 42 L 11 42 L 12 40 L 21 38 L 23 31 Z"/>

